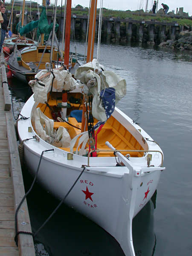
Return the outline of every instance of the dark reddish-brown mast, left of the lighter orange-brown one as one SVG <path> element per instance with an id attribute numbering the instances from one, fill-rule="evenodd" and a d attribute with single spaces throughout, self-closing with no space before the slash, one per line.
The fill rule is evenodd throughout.
<path id="1" fill-rule="evenodd" d="M 65 53 L 64 65 L 69 65 L 69 51 L 70 51 L 70 29 L 71 29 L 71 0 L 67 0 L 66 6 L 66 22 L 65 22 Z"/>

